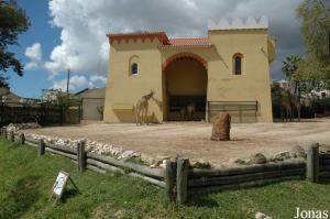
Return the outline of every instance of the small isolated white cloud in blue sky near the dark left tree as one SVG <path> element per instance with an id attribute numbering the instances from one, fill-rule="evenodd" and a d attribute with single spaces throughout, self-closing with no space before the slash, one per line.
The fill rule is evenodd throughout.
<path id="1" fill-rule="evenodd" d="M 42 67 L 42 46 L 40 43 L 34 43 L 32 46 L 25 48 L 25 56 L 30 62 L 25 65 L 26 70 Z"/>

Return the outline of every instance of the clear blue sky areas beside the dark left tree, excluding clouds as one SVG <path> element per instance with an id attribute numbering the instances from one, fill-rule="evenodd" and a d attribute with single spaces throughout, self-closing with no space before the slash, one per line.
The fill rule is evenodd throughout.
<path id="1" fill-rule="evenodd" d="M 41 42 L 43 56 L 48 57 L 53 47 L 59 44 L 61 30 L 51 28 L 48 15 L 48 2 L 45 0 L 19 0 L 20 7 L 26 10 L 31 20 L 31 26 L 26 33 L 19 36 L 19 46 L 12 46 L 11 51 L 23 63 L 29 58 L 24 55 L 25 48 L 35 42 Z M 23 97 L 40 97 L 41 90 L 50 88 L 52 83 L 47 79 L 48 73 L 45 69 L 24 70 L 24 76 L 19 77 L 10 73 L 11 90 Z"/>

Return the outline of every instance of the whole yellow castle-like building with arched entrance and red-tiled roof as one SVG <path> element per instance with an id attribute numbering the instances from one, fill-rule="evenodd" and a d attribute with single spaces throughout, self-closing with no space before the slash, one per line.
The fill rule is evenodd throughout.
<path id="1" fill-rule="evenodd" d="M 208 37 L 168 39 L 165 32 L 108 34 L 110 64 L 105 122 L 134 122 L 135 103 L 151 90 L 148 119 L 212 121 L 228 111 L 234 122 L 272 122 L 270 64 L 275 40 L 268 21 L 209 21 Z"/>

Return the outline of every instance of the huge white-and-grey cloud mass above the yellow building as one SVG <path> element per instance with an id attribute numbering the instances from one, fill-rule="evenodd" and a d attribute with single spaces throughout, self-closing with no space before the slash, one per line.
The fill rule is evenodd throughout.
<path id="1" fill-rule="evenodd" d="M 62 30 L 44 68 L 55 76 L 72 69 L 106 75 L 109 59 L 107 33 L 164 30 L 169 36 L 206 36 L 209 18 L 270 18 L 277 37 L 278 61 L 302 51 L 295 9 L 301 0 L 51 0 L 52 25 Z M 279 65 L 280 62 L 275 63 Z M 31 65 L 31 67 L 34 67 Z M 273 67 L 279 74 L 278 66 Z M 92 84 L 92 81 L 91 81 Z"/>

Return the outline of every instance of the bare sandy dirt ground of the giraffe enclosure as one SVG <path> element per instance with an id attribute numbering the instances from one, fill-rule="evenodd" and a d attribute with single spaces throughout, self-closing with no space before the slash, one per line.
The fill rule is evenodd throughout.
<path id="1" fill-rule="evenodd" d="M 230 158 L 245 158 L 254 153 L 267 156 L 289 151 L 295 145 L 307 147 L 312 142 L 330 144 L 330 118 L 289 123 L 232 124 L 230 142 L 210 140 L 212 124 L 168 122 L 135 124 L 88 124 L 26 130 L 61 138 L 88 138 L 135 150 L 152 157 L 184 156 L 204 158 L 215 165 Z"/>

